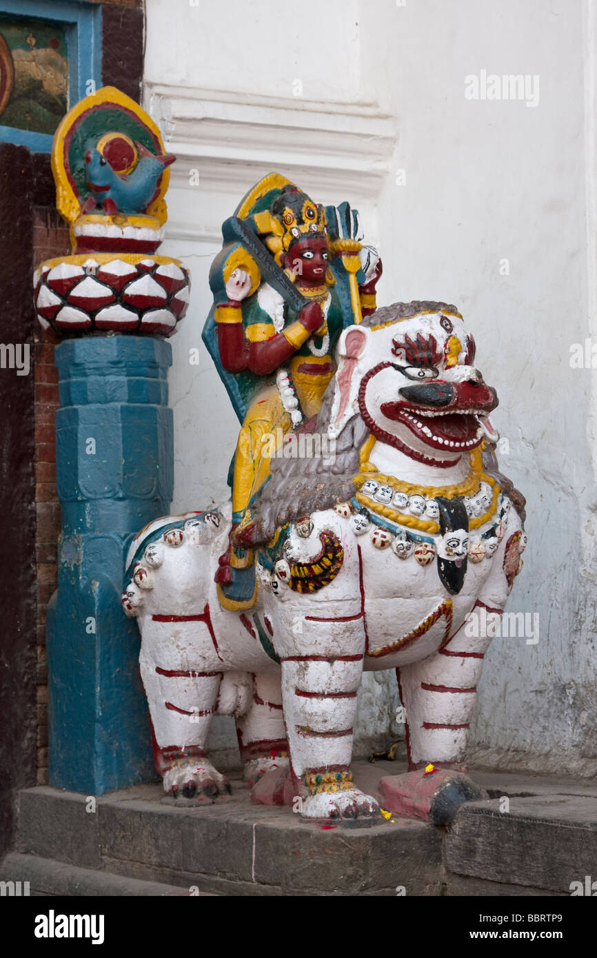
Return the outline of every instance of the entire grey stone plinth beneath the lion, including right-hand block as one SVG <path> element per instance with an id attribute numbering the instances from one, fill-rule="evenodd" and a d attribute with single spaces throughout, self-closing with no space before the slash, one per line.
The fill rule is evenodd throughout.
<path id="1" fill-rule="evenodd" d="M 375 794 L 381 776 L 404 766 L 354 768 Z M 571 882 L 594 876 L 597 786 L 472 778 L 494 797 L 464 805 L 448 829 L 398 816 L 363 829 L 304 824 L 287 808 L 252 805 L 233 773 L 232 794 L 214 805 L 176 806 L 155 784 L 113 792 L 89 811 L 83 795 L 31 788 L 20 793 L 17 851 L 0 879 L 58 895 L 408 898 L 568 897 Z M 505 797 L 508 813 L 499 811 Z"/>

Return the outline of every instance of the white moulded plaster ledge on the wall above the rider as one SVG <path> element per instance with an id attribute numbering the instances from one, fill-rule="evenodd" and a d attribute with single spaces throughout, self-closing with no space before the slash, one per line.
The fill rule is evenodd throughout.
<path id="1" fill-rule="evenodd" d="M 251 95 L 241 101 L 223 91 L 146 82 L 145 105 L 178 158 L 172 189 L 193 189 L 196 168 L 202 188 L 240 198 L 264 173 L 279 171 L 316 190 L 320 201 L 375 202 L 396 145 L 396 122 L 377 103 Z"/>

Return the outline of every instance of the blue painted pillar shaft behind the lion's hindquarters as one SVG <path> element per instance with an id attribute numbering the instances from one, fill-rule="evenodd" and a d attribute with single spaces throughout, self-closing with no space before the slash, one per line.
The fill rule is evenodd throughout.
<path id="1" fill-rule="evenodd" d="M 92 336 L 55 352 L 58 588 L 48 610 L 50 785 L 102 795 L 155 779 L 139 629 L 122 606 L 131 536 L 172 501 L 170 343 Z"/>

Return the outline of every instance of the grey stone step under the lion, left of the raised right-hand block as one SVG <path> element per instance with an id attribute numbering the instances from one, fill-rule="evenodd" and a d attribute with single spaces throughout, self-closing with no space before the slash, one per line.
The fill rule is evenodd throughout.
<path id="1" fill-rule="evenodd" d="M 204 807 L 165 804 L 161 786 L 113 792 L 95 806 L 73 792 L 26 789 L 18 852 L 187 895 L 395 896 L 397 886 L 442 894 L 441 835 L 425 823 L 322 828 L 288 808 L 255 806 L 232 784 L 230 797 Z"/>

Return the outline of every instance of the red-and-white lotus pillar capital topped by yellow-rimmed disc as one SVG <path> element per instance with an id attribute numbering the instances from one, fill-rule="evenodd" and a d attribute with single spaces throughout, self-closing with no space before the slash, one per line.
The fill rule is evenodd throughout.
<path id="1" fill-rule="evenodd" d="M 35 270 L 43 329 L 60 336 L 176 331 L 189 305 L 189 271 L 157 254 L 174 160 L 149 114 L 113 86 L 69 110 L 54 137 L 52 171 L 72 253 Z"/>

